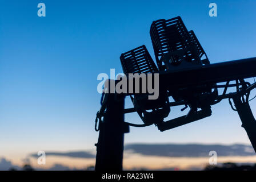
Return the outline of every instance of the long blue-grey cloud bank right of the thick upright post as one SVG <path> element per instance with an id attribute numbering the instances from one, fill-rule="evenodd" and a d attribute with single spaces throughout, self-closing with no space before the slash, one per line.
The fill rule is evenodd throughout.
<path id="1" fill-rule="evenodd" d="M 125 150 L 141 155 L 170 157 L 201 157 L 209 156 L 210 151 L 216 151 L 218 156 L 250 156 L 255 155 L 252 146 L 243 144 L 128 144 Z"/>

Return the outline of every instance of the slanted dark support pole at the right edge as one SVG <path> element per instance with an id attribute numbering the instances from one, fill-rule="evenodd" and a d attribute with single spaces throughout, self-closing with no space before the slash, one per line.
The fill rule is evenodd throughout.
<path id="1" fill-rule="evenodd" d="M 236 94 L 232 99 L 242 121 L 242 127 L 245 129 L 251 141 L 251 145 L 256 152 L 256 121 L 251 111 L 249 102 L 242 102 L 241 97 L 241 95 Z"/>

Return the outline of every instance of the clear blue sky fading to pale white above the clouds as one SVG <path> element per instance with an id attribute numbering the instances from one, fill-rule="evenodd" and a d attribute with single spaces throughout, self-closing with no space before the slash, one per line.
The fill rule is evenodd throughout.
<path id="1" fill-rule="evenodd" d="M 46 17 L 37 15 L 45 3 Z M 209 16 L 209 4 L 218 16 Z M 211 63 L 255 57 L 256 1 L 0 1 L 0 156 L 95 150 L 99 73 L 121 73 L 119 56 L 145 44 L 153 20 L 181 16 Z M 251 93 L 252 96 L 255 92 Z M 126 107 L 131 106 L 127 98 Z M 256 102 L 251 101 L 255 113 Z M 170 118 L 186 114 L 173 108 Z M 250 141 L 227 100 L 209 118 L 161 133 L 131 128 L 125 143 Z M 142 123 L 136 113 L 125 120 Z"/>

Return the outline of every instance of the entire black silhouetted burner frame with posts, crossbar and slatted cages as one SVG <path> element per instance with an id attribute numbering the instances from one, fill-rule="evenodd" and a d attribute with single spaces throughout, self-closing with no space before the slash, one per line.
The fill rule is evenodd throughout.
<path id="1" fill-rule="evenodd" d="M 187 31 L 179 16 L 154 21 L 150 27 L 150 36 L 157 66 L 145 46 L 122 53 L 120 60 L 125 75 L 159 73 L 159 97 L 157 100 L 148 100 L 149 93 L 103 94 L 102 107 L 95 123 L 95 129 L 99 130 L 95 169 L 122 170 L 123 135 L 129 132 L 129 126 L 155 124 L 160 131 L 173 129 L 209 117 L 211 105 L 225 98 L 229 99 L 232 109 L 238 112 L 242 127 L 256 151 L 256 121 L 249 106 L 249 94 L 256 88 L 256 83 L 250 84 L 244 80 L 256 76 L 256 57 L 210 64 L 194 32 Z M 231 87 L 236 88 L 236 92 L 227 93 Z M 219 88 L 223 88 L 221 94 Z M 125 96 L 131 97 L 133 108 L 125 109 Z M 174 102 L 169 102 L 169 97 Z M 185 105 L 182 111 L 189 107 L 189 112 L 182 117 L 164 121 L 170 113 L 170 107 L 179 105 Z M 143 125 L 124 121 L 124 114 L 134 111 L 141 117 Z"/>

